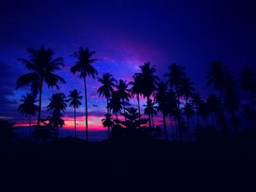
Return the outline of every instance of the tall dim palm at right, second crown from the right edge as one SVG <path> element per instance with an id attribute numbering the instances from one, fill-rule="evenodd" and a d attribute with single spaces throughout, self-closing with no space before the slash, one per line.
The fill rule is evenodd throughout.
<path id="1" fill-rule="evenodd" d="M 222 64 L 222 61 L 211 61 L 210 69 L 207 72 L 206 80 L 207 85 L 214 85 L 219 91 L 219 100 L 222 104 L 222 92 L 227 78 L 228 69 L 227 66 Z"/>

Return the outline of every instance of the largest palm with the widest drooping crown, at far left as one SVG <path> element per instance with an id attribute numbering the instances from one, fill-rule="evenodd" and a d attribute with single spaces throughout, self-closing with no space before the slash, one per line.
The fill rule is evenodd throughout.
<path id="1" fill-rule="evenodd" d="M 19 58 L 25 64 L 26 68 L 31 70 L 27 74 L 23 74 L 17 80 L 17 88 L 23 85 L 31 84 L 31 91 L 37 95 L 39 93 L 39 111 L 37 118 L 37 126 L 39 126 L 41 118 L 41 106 L 42 106 L 42 84 L 46 82 L 48 87 L 56 87 L 59 89 L 58 83 L 64 83 L 65 80 L 53 72 L 59 71 L 60 66 L 64 66 L 63 58 L 53 59 L 53 50 L 46 49 L 43 45 L 39 50 L 28 48 L 30 59 Z"/>

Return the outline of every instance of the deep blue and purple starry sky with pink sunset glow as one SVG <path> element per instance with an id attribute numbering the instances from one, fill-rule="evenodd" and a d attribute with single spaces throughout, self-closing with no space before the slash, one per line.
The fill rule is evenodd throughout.
<path id="1" fill-rule="evenodd" d="M 214 59 L 230 66 L 235 76 L 244 65 L 256 64 L 256 3 L 253 1 L 3 1 L 0 2 L 0 118 L 27 124 L 17 111 L 20 96 L 29 86 L 15 90 L 17 78 L 26 72 L 17 58 L 28 58 L 27 47 L 50 47 L 64 58 L 59 75 L 67 80 L 59 91 L 83 91 L 83 81 L 69 72 L 79 46 L 96 51 L 94 67 L 130 81 L 139 65 L 150 61 L 157 74 L 167 66 L 185 66 L 203 96 L 206 71 Z M 162 80 L 165 80 L 162 78 Z M 103 129 L 105 99 L 99 99 L 97 80 L 90 79 L 89 129 Z M 56 89 L 44 86 L 42 116 L 48 97 Z M 131 104 L 136 104 L 135 100 Z M 143 104 L 143 103 L 142 103 Z M 83 106 L 78 123 L 84 128 Z M 73 110 L 65 112 L 67 128 L 73 126 Z"/>

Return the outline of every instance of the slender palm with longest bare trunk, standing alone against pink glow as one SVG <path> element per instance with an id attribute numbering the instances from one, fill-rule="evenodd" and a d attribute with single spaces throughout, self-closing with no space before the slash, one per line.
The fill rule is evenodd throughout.
<path id="1" fill-rule="evenodd" d="M 94 55 L 94 51 L 90 51 L 89 48 L 79 47 L 78 51 L 73 53 L 73 57 L 77 58 L 78 61 L 74 66 L 71 67 L 70 72 L 75 74 L 76 72 L 80 73 L 80 78 L 83 78 L 84 82 L 84 94 L 86 100 L 86 141 L 88 141 L 88 105 L 87 105 L 87 92 L 86 92 L 86 77 L 93 77 L 95 79 L 95 75 L 97 75 L 97 70 L 94 69 L 94 66 L 91 64 L 94 61 L 97 61 L 96 58 L 91 58 Z"/>

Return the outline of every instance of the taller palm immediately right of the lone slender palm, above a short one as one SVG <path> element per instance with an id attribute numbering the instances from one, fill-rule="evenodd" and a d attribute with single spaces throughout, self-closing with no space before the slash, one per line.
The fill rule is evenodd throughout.
<path id="1" fill-rule="evenodd" d="M 98 78 L 98 81 L 102 83 L 102 86 L 98 88 L 97 93 L 99 93 L 99 96 L 105 97 L 107 99 L 107 114 L 110 114 L 109 112 L 109 99 L 111 94 L 113 93 L 113 86 L 114 86 L 114 81 L 116 81 L 112 74 L 109 73 L 104 73 L 102 78 Z M 108 137 L 110 137 L 110 126 L 108 126 Z"/>

